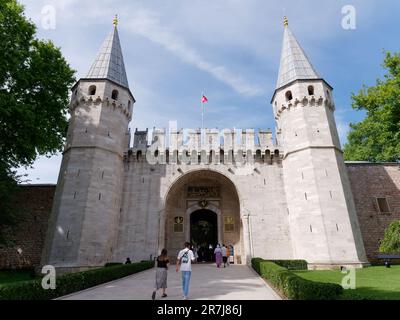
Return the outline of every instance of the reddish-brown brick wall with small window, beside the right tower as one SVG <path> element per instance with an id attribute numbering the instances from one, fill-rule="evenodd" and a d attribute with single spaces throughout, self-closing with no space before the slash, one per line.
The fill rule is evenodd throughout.
<path id="1" fill-rule="evenodd" d="M 400 219 L 400 165 L 347 163 L 357 215 L 370 263 L 377 259 L 385 229 Z M 390 213 L 380 213 L 376 198 L 387 198 Z"/>

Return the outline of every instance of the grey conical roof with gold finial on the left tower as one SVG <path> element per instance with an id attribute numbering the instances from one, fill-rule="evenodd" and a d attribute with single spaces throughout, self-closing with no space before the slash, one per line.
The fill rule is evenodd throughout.
<path id="1" fill-rule="evenodd" d="M 113 31 L 111 31 L 104 40 L 86 78 L 108 79 L 125 88 L 129 88 L 124 58 L 122 56 L 121 43 L 118 36 L 117 17 L 114 18 L 113 24 Z"/>

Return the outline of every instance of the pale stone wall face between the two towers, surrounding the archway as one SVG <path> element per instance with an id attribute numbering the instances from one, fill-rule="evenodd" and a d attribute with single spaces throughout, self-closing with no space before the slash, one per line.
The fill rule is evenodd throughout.
<path id="1" fill-rule="evenodd" d="M 224 185 L 223 181 L 230 180 L 235 186 L 240 214 L 232 209 L 234 206 L 228 195 L 225 197 L 227 201 L 222 199 L 220 202 L 220 211 L 222 216 L 235 217 L 235 230 L 242 229 L 234 239 L 222 237 L 221 241 L 237 243 L 235 252 L 241 254 L 242 263 L 246 263 L 250 255 L 269 259 L 293 258 L 280 164 L 255 163 L 235 167 L 182 163 L 153 166 L 143 159 L 138 160 L 133 154 L 125 161 L 122 211 L 114 261 L 125 261 L 126 257 L 132 256 L 134 260 L 148 259 L 150 255 L 154 257 L 164 245 L 171 244 L 168 241 L 171 237 L 176 237 L 175 244 L 169 247 L 170 254 L 175 255 L 178 246 L 189 240 L 188 233 L 179 235 L 180 238 L 176 234 L 171 236 L 173 226 L 168 225 L 172 221 L 170 210 L 175 216 L 185 216 L 193 205 L 179 196 L 179 190 L 183 189 L 175 188 L 181 184 L 181 179 L 186 179 L 184 177 L 188 178 L 187 186 L 198 186 L 202 178 L 210 178 L 214 185 Z M 174 200 L 169 202 L 169 198 Z"/>

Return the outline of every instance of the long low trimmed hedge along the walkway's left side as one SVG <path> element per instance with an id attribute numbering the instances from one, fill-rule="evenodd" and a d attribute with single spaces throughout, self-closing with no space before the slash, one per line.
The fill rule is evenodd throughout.
<path id="1" fill-rule="evenodd" d="M 150 269 L 153 261 L 111 266 L 57 277 L 55 290 L 44 290 L 42 279 L 0 285 L 0 300 L 50 300 Z"/>

